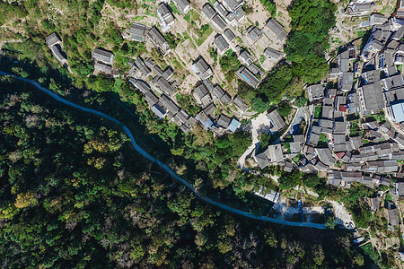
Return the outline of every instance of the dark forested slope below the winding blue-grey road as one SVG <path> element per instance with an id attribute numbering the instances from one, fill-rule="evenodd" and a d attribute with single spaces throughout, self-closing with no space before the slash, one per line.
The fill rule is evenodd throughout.
<path id="1" fill-rule="evenodd" d="M 141 158 L 118 126 L 10 77 L 0 77 L 0 90 L 4 268 L 363 264 L 341 230 L 292 230 L 220 212 Z"/>

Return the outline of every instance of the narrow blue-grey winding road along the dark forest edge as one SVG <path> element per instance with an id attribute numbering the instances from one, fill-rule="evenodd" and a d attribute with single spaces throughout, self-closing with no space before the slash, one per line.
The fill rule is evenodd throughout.
<path id="1" fill-rule="evenodd" d="M 326 229 L 327 227 L 324 224 L 320 224 L 320 223 L 312 223 L 312 222 L 294 222 L 294 221 L 285 221 L 285 220 L 278 220 L 278 219 L 274 219 L 274 218 L 269 218 L 267 216 L 256 216 L 252 213 L 248 213 L 239 209 L 235 209 L 231 206 L 228 206 L 226 204 L 222 204 L 219 202 L 216 202 L 215 200 L 212 200 L 206 196 L 200 195 L 199 192 L 195 189 L 195 187 L 193 187 L 192 185 L 189 184 L 188 181 L 186 181 L 183 178 L 180 178 L 180 176 L 178 176 L 176 173 L 174 173 L 170 168 L 168 168 L 164 163 L 162 163 L 161 161 L 156 160 L 152 155 L 150 155 L 149 153 L 145 152 L 144 149 L 142 149 L 135 141 L 135 138 L 133 137 L 133 134 L 130 132 L 130 130 L 127 128 L 127 126 L 125 126 L 123 123 L 121 123 L 118 119 L 114 118 L 114 117 L 110 117 L 109 115 L 102 113 L 100 111 L 94 110 L 94 109 L 90 109 L 90 108 L 84 108 L 82 106 L 76 105 L 75 103 L 72 103 L 71 101 L 68 100 L 64 100 L 63 98 L 59 97 L 57 94 L 55 94 L 52 91 L 49 91 L 48 89 L 40 86 L 40 84 L 38 82 L 32 81 L 30 79 L 26 79 L 23 78 L 21 76 L 17 76 L 15 74 L 9 74 L 9 73 L 5 73 L 0 71 L 0 75 L 10 75 L 13 76 L 15 79 L 22 81 L 22 82 L 28 82 L 31 85 L 35 86 L 36 88 L 38 88 L 40 91 L 43 91 L 44 93 L 48 94 L 48 96 L 52 97 L 53 99 L 62 102 L 64 104 L 66 104 L 67 106 L 70 106 L 72 108 L 76 108 L 79 110 L 82 110 L 84 112 L 88 112 L 88 113 L 92 113 L 94 115 L 98 115 L 100 117 L 104 117 L 108 120 L 110 120 L 111 122 L 117 124 L 118 126 L 120 126 L 125 133 L 127 133 L 127 136 L 130 138 L 130 141 L 133 145 L 133 147 L 135 148 L 136 152 L 139 152 L 142 156 L 144 156 L 147 160 L 149 161 L 153 161 L 155 164 L 159 165 L 162 169 L 164 169 L 167 173 L 169 173 L 173 178 L 176 178 L 178 181 L 180 181 L 180 183 L 182 183 L 185 187 L 188 187 L 190 191 L 192 191 L 200 200 L 205 201 L 208 204 L 213 204 L 217 207 L 220 207 L 226 211 L 232 212 L 232 213 L 236 213 L 239 215 L 242 215 L 244 217 L 250 218 L 250 219 L 255 219 L 255 220 L 259 220 L 259 221 L 267 221 L 267 222 L 273 222 L 273 223 L 278 223 L 278 224 L 283 224 L 283 225 L 287 225 L 287 226 L 294 226 L 294 227 L 311 227 L 311 228 L 316 228 L 316 229 Z"/>

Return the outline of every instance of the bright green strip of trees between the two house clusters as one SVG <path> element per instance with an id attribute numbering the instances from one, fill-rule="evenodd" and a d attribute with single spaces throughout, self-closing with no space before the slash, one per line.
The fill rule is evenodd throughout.
<path id="1" fill-rule="evenodd" d="M 329 48 L 329 29 L 335 25 L 337 5 L 329 0 L 296 0 L 289 8 L 292 19 L 285 47 L 290 64 L 275 67 L 261 82 L 262 93 L 252 100 L 253 108 L 264 111 L 284 96 L 303 93 L 303 83 L 315 83 L 325 78 L 329 65 L 324 52 Z"/>

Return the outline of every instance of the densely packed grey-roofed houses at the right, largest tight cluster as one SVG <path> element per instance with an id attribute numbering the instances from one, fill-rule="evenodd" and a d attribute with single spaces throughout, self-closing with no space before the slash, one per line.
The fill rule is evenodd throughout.
<path id="1" fill-rule="evenodd" d="M 354 182 L 390 186 L 391 177 L 402 178 L 404 78 L 396 65 L 404 55 L 403 37 L 404 26 L 385 20 L 373 26 L 361 53 L 353 45 L 341 49 L 327 87 L 306 89 L 313 109 L 305 134 L 269 145 L 254 156 L 259 167 L 277 164 L 288 170 L 293 164 L 307 173 L 327 173 L 329 184 L 347 188 Z M 404 186 L 396 189 L 404 195 Z"/>

